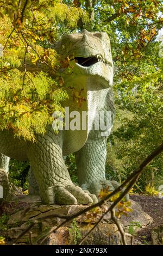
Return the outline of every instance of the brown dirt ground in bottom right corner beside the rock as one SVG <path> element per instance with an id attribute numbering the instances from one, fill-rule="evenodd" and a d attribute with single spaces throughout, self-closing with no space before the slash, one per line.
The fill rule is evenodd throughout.
<path id="1" fill-rule="evenodd" d="M 130 198 L 142 206 L 143 211 L 153 218 L 153 223 L 136 234 L 136 240 L 145 245 L 151 244 L 151 230 L 163 225 L 163 198 L 132 195 Z"/>

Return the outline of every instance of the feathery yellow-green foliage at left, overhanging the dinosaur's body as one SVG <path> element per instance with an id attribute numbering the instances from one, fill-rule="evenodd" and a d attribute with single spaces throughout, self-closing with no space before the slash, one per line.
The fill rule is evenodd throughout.
<path id="1" fill-rule="evenodd" d="M 0 130 L 34 141 L 52 124 L 52 113 L 64 111 L 60 103 L 68 97 L 52 48 L 60 26 L 76 28 L 87 16 L 58 0 L 0 1 L 0 14 Z"/>

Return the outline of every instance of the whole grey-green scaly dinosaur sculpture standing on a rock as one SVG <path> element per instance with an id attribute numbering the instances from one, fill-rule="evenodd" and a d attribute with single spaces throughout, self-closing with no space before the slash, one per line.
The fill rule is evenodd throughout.
<path id="1" fill-rule="evenodd" d="M 72 74 L 64 75 L 69 99 L 63 106 L 71 111 L 90 111 L 85 130 L 62 130 L 55 134 L 47 127 L 45 135 L 36 135 L 36 142 L 15 138 L 11 131 L 0 132 L 0 168 L 8 170 L 9 157 L 30 162 L 29 192 L 38 193 L 46 204 L 88 204 L 97 202 L 99 192 L 113 191 L 116 181 L 105 178 L 106 139 L 114 120 L 112 98 L 113 64 L 110 41 L 106 33 L 90 33 L 85 29 L 66 35 L 55 45 L 62 57 L 74 56 Z M 61 70 L 64 74 L 64 70 Z M 78 106 L 73 90 L 82 92 Z M 109 132 L 92 129 L 99 112 L 110 111 Z M 105 116 L 106 118 L 106 116 Z M 104 120 L 103 120 L 104 121 Z M 106 120 L 105 120 L 106 121 Z M 71 181 L 63 156 L 76 154 L 79 186 Z"/>

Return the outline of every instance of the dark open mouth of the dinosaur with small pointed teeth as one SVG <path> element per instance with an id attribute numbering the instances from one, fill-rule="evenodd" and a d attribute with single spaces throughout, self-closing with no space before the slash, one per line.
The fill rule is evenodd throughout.
<path id="1" fill-rule="evenodd" d="M 101 55 L 97 55 L 97 56 L 90 56 L 90 57 L 87 57 L 87 58 L 84 58 L 84 57 L 75 57 L 77 63 L 80 65 L 80 66 L 91 66 L 93 64 L 96 64 L 98 62 L 102 62 L 104 63 L 106 66 L 108 66 L 108 62 L 106 62 L 106 60 L 104 60 L 102 58 Z"/>

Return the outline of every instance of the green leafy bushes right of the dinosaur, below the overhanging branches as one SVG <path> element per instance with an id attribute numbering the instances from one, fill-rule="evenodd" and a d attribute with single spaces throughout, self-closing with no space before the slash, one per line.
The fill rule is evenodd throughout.
<path id="1" fill-rule="evenodd" d="M 130 81 L 124 78 L 115 87 L 118 90 L 116 103 L 119 108 L 119 126 L 112 138 L 116 139 L 116 154 L 126 174 L 162 142 L 162 60 L 155 56 L 158 54 L 158 43 L 153 43 L 151 47 L 156 52 L 148 57 L 148 63 L 140 62 L 139 76 L 134 75 Z M 152 181 L 152 168 L 155 168 L 156 182 L 162 170 L 162 155 L 156 157 L 140 177 L 143 190 Z"/>

